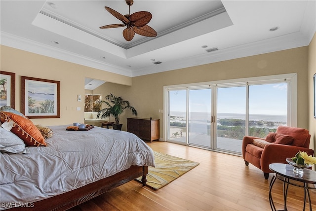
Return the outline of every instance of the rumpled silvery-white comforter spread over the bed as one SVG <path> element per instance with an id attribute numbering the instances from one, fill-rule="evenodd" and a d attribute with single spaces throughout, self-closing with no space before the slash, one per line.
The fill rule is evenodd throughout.
<path id="1" fill-rule="evenodd" d="M 39 201 L 132 165 L 155 166 L 153 150 L 134 134 L 99 127 L 66 131 L 67 126 L 50 126 L 53 136 L 46 147 L 0 153 L 1 204 Z"/>

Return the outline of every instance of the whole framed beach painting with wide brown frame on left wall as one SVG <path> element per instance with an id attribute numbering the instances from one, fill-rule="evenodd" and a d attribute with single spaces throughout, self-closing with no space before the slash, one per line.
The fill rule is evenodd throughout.
<path id="1" fill-rule="evenodd" d="M 60 81 L 21 76 L 21 111 L 31 118 L 60 118 Z"/>

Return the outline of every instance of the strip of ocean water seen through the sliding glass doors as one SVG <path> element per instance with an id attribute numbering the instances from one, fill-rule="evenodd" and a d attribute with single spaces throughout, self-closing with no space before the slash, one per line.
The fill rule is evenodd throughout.
<path id="1" fill-rule="evenodd" d="M 170 111 L 170 116 L 182 117 L 186 119 L 186 112 Z M 206 121 L 210 119 L 211 113 L 192 112 L 190 120 Z M 181 118 L 177 118 L 181 119 Z M 245 120 L 245 114 L 239 113 L 218 113 L 217 119 L 242 119 Z M 286 123 L 286 115 L 266 115 L 266 114 L 249 114 L 249 120 L 253 121 L 271 121 L 271 122 L 284 122 Z M 177 120 L 178 121 L 178 120 Z"/>

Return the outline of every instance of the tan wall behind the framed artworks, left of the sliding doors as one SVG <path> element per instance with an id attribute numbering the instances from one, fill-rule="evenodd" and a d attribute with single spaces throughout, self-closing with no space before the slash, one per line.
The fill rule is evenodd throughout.
<path id="1" fill-rule="evenodd" d="M 131 85 L 131 78 L 1 45 L 2 71 L 15 72 L 15 108 L 20 110 L 20 76 L 60 81 L 60 118 L 32 119 L 35 124 L 63 125 L 84 121 L 84 77 Z M 81 110 L 78 111 L 77 107 Z"/>

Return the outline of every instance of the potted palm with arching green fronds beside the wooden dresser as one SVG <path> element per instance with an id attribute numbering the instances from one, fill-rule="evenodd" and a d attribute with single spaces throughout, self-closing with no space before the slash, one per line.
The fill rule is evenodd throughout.
<path id="1" fill-rule="evenodd" d="M 101 109 L 97 118 L 101 115 L 101 118 L 113 116 L 115 119 L 115 124 L 113 124 L 113 129 L 121 130 L 122 124 L 119 124 L 119 116 L 123 113 L 124 109 L 128 108 L 132 111 L 134 116 L 137 116 L 137 111 L 133 106 L 129 105 L 128 101 L 124 101 L 122 97 L 113 96 L 112 94 L 105 96 L 105 101 L 101 101 L 101 104 L 105 104 L 106 108 Z"/>

